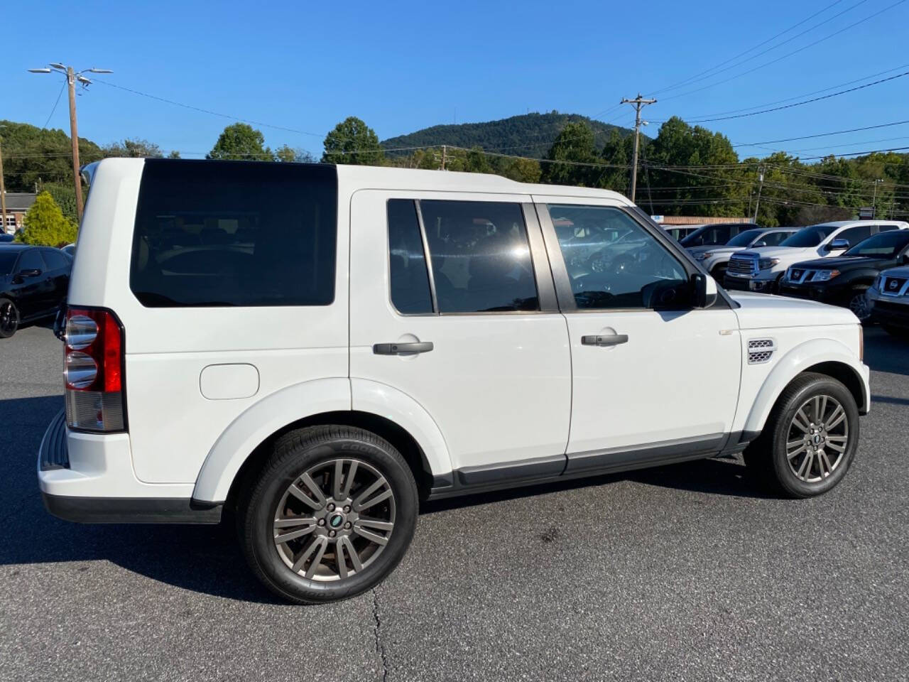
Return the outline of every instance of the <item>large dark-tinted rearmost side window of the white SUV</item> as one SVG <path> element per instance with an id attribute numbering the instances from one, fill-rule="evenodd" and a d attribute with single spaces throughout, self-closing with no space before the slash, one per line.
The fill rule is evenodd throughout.
<path id="1" fill-rule="evenodd" d="M 144 306 L 327 306 L 337 174 L 327 165 L 148 160 L 130 288 Z"/>

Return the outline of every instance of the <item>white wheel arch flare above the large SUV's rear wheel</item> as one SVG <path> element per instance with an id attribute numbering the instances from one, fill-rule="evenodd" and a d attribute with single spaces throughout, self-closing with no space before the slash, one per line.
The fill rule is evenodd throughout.
<path id="1" fill-rule="evenodd" d="M 450 475 L 445 440 L 412 398 L 375 382 L 319 379 L 277 391 L 238 416 L 205 457 L 193 499 L 229 506 L 239 485 L 265 462 L 276 438 L 296 428 L 328 424 L 364 428 L 385 438 L 411 466 L 422 495 L 435 476 Z"/>

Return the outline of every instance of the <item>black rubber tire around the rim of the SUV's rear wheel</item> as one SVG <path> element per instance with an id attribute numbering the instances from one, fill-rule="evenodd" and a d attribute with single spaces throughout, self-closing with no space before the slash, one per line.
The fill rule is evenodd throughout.
<path id="1" fill-rule="evenodd" d="M 287 489 L 305 472 L 338 458 L 356 460 L 361 466 L 365 463 L 385 477 L 395 503 L 394 529 L 387 537 L 387 544 L 380 552 L 376 551 L 372 563 L 365 564 L 361 571 L 334 581 L 310 579 L 292 570 L 279 555 L 275 514 L 280 511 L 278 505 L 282 499 L 289 499 L 285 495 Z M 296 604 L 318 604 L 355 597 L 384 580 L 404 557 L 414 537 L 418 506 L 414 475 L 394 446 L 373 433 L 351 426 L 311 426 L 292 431 L 275 442 L 261 473 L 239 496 L 237 530 L 246 561 L 266 587 Z M 321 512 L 308 513 L 317 517 Z M 323 521 L 327 518 L 325 514 Z M 328 527 L 329 523 L 323 523 L 321 528 L 314 528 L 311 537 L 316 537 L 316 531 L 324 535 Z M 354 538 L 355 531 L 350 533 L 349 537 Z M 330 551 L 325 550 L 325 556 Z M 340 554 L 344 556 L 343 551 Z"/>

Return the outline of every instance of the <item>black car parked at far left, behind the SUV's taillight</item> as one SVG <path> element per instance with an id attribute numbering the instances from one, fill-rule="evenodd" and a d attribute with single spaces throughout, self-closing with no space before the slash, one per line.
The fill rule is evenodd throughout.
<path id="1" fill-rule="evenodd" d="M 66 300 L 73 261 L 48 246 L 0 246 L 0 338 L 26 322 L 55 315 Z"/>

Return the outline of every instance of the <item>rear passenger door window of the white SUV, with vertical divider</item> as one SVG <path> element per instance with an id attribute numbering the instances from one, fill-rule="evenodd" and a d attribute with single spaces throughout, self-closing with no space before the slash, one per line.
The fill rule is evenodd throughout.
<path id="1" fill-rule="evenodd" d="M 540 309 L 520 204 L 392 199 L 388 238 L 392 303 L 401 313 Z"/>

